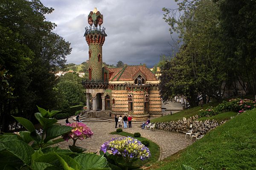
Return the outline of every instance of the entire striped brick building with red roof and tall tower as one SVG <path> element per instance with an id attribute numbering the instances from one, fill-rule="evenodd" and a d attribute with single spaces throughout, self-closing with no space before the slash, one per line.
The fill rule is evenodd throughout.
<path id="1" fill-rule="evenodd" d="M 135 121 L 162 116 L 159 81 L 145 65 L 123 68 L 102 67 L 102 45 L 105 42 L 103 15 L 94 8 L 88 15 L 89 28 L 84 37 L 89 45 L 89 79 L 86 88 L 87 112 L 111 111 L 114 115 L 131 115 Z M 91 110 L 92 109 L 92 110 Z"/>

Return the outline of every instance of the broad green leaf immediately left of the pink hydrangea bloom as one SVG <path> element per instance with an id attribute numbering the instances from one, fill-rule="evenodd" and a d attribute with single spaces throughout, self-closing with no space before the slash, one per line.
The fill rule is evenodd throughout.
<path id="1" fill-rule="evenodd" d="M 58 136 L 61 136 L 64 133 L 69 132 L 70 130 L 72 130 L 72 127 L 70 126 L 52 125 L 47 129 L 46 138 L 44 139 L 44 142 L 47 142 L 50 139 L 54 139 Z"/>

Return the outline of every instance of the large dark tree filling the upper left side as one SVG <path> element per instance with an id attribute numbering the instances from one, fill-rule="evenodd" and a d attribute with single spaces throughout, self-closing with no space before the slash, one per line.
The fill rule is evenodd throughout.
<path id="1" fill-rule="evenodd" d="M 55 106 L 53 86 L 56 69 L 66 62 L 70 43 L 52 33 L 55 24 L 44 15 L 53 11 L 38 0 L 5 0 L 0 2 L 0 65 L 13 75 L 10 85 L 13 97 L 1 101 L 3 131 L 16 114 L 34 119 L 36 105 Z"/>

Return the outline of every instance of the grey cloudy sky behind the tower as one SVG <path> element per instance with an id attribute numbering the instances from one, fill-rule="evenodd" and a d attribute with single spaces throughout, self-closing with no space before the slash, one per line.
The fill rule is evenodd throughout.
<path id="1" fill-rule="evenodd" d="M 88 59 L 84 27 L 94 7 L 104 16 L 108 35 L 102 47 L 103 61 L 116 65 L 146 63 L 152 67 L 160 54 L 170 55 L 169 26 L 163 20 L 163 7 L 176 8 L 174 0 L 41 0 L 55 10 L 46 16 L 57 24 L 54 32 L 71 42 L 67 63 L 81 64 Z"/>

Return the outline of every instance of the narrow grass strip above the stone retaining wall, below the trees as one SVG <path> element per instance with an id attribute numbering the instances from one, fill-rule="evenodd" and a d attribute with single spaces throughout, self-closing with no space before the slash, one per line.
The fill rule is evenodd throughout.
<path id="1" fill-rule="evenodd" d="M 212 102 L 209 102 L 207 104 L 204 104 L 203 108 L 201 108 L 201 106 L 197 106 L 195 108 L 191 108 L 191 109 L 187 109 L 187 110 L 184 110 L 184 111 L 174 113 L 173 115 L 166 115 L 166 116 L 158 117 L 156 119 L 152 119 L 151 122 L 171 122 L 171 121 L 174 121 L 174 120 L 182 119 L 183 117 L 189 118 L 189 117 L 192 117 L 194 115 L 197 115 L 199 110 L 206 109 L 210 106 L 214 107 L 214 106 L 218 105 L 221 102 L 222 101 L 220 101 L 220 102 L 212 101 Z"/>

